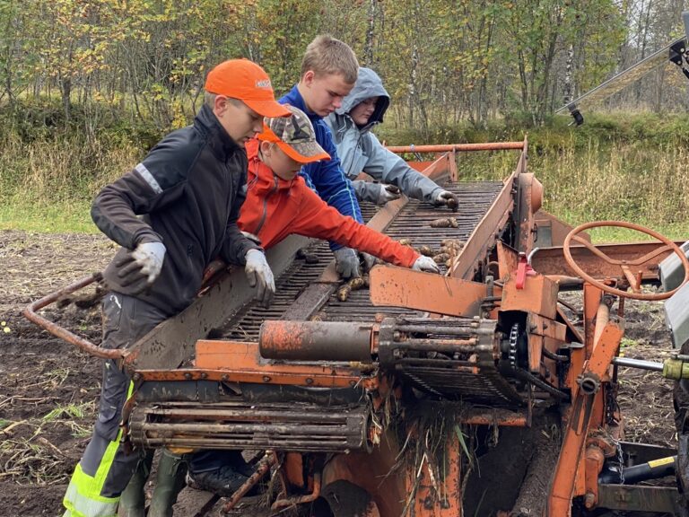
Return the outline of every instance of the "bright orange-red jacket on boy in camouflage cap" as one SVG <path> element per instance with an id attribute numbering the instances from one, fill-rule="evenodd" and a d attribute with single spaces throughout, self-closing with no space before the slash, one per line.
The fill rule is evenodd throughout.
<path id="1" fill-rule="evenodd" d="M 281 180 L 258 159 L 258 141 L 247 143 L 249 175 L 247 198 L 241 206 L 240 230 L 251 232 L 268 249 L 291 233 L 336 241 L 354 250 L 401 267 L 412 267 L 419 255 L 387 235 L 357 223 L 328 206 L 306 186 L 301 176 Z"/>

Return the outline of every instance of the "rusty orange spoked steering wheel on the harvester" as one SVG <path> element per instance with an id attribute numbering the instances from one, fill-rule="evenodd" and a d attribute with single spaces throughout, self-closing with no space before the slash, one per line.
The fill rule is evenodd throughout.
<path id="1" fill-rule="evenodd" d="M 662 246 L 657 250 L 653 250 L 650 253 L 644 255 L 643 257 L 640 257 L 639 259 L 635 260 L 611 259 L 605 253 L 603 253 L 603 251 L 598 250 L 596 246 L 594 246 L 589 241 L 586 241 L 585 239 L 579 236 L 579 233 L 583 232 L 584 230 L 589 230 L 591 228 L 600 228 L 602 226 L 612 226 L 636 230 L 637 232 L 645 233 L 646 235 L 654 237 L 658 241 L 665 244 L 665 246 Z M 581 269 L 581 267 L 571 257 L 571 241 L 577 241 L 585 248 L 587 248 L 591 253 L 596 255 L 598 259 L 603 260 L 607 264 L 610 264 L 611 266 L 619 266 L 622 269 L 622 272 L 624 274 L 624 277 L 627 279 L 627 282 L 629 282 L 630 287 L 632 287 L 632 293 L 622 291 L 621 289 L 615 289 L 615 287 L 606 285 L 603 282 L 596 280 L 593 276 L 590 276 L 583 269 Z M 679 259 L 682 261 L 682 266 L 685 267 L 685 279 L 683 280 L 682 284 L 676 287 L 676 289 L 673 289 L 672 291 L 669 291 L 667 293 L 641 293 L 641 278 L 638 278 L 633 273 L 632 267 L 639 267 L 649 262 L 651 259 L 655 259 L 661 253 L 665 253 L 667 251 L 672 251 L 673 253 L 675 253 L 676 256 L 679 257 Z M 596 221 L 593 223 L 580 224 L 567 234 L 567 237 L 564 240 L 563 253 L 564 259 L 567 261 L 567 264 L 586 282 L 589 282 L 589 284 L 591 285 L 595 285 L 598 289 L 601 289 L 606 293 L 615 294 L 616 296 L 623 296 L 624 298 L 631 298 L 632 300 L 666 300 L 667 298 L 675 294 L 677 290 L 680 287 L 682 287 L 682 285 L 685 285 L 685 282 L 689 280 L 689 260 L 686 259 L 685 253 L 679 249 L 679 246 L 677 246 L 675 242 L 667 239 L 667 237 L 660 235 L 660 233 L 654 232 L 653 230 L 650 230 L 650 228 L 646 228 L 639 224 L 626 223 L 624 221 Z"/>

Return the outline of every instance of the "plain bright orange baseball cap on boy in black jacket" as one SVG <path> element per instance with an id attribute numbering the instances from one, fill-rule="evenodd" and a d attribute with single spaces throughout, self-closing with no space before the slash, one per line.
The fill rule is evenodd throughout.
<path id="1" fill-rule="evenodd" d="M 249 59 L 228 59 L 205 78 L 205 91 L 243 101 L 264 117 L 288 117 L 292 113 L 275 101 L 266 71 Z"/>

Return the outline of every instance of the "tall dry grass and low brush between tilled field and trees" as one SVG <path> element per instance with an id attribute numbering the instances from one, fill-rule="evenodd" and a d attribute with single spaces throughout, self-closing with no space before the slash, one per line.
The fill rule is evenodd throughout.
<path id="1" fill-rule="evenodd" d="M 60 107 L 24 107 L 20 121 L 0 107 L 0 230 L 98 232 L 91 200 L 103 185 L 138 162 L 154 141 L 150 127 L 109 118 L 95 136 L 71 126 L 49 126 Z M 49 116 L 48 116 L 49 115 Z M 6 123 L 4 123 L 6 122 Z M 641 223 L 668 237 L 689 236 L 689 117 L 624 114 L 591 116 L 583 127 L 554 118 L 526 127 L 505 118 L 486 127 L 438 125 L 425 140 L 394 119 L 377 132 L 389 144 L 522 140 L 528 130 L 528 169 L 544 185 L 544 208 L 566 223 L 597 220 Z M 140 124 L 140 123 L 139 123 Z M 518 153 L 461 153 L 467 180 L 502 180 Z M 641 241 L 636 232 L 603 228 L 595 241 Z"/>

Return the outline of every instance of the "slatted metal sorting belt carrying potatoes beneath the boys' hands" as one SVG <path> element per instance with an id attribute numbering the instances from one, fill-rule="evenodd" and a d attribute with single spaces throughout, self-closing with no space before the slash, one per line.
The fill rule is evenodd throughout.
<path id="1" fill-rule="evenodd" d="M 460 181 L 448 183 L 445 188 L 459 197 L 458 212 L 438 209 L 428 203 L 415 199 L 410 200 L 397 217 L 388 225 L 386 234 L 395 240 L 410 239 L 414 247 L 428 245 L 433 250 L 440 248 L 443 239 L 467 241 L 493 200 L 500 193 L 502 183 L 499 181 Z M 368 221 L 375 215 L 377 207 L 362 203 L 362 215 Z M 432 228 L 429 223 L 443 217 L 455 217 L 457 228 Z M 289 309 L 306 286 L 318 280 L 333 259 L 327 242 L 311 245 L 307 253 L 317 257 L 318 263 L 308 264 L 305 259 L 295 259 L 282 276 L 277 278 L 275 302 L 270 309 L 264 309 L 257 303 L 249 303 L 222 325 L 223 337 L 238 341 L 257 341 L 258 330 L 264 320 L 279 320 Z M 445 266 L 441 266 L 445 271 Z M 371 305 L 368 289 L 353 291 L 346 302 L 340 302 L 336 294 L 320 309 L 318 314 L 328 321 L 373 321 L 377 314 L 394 316 L 406 314 L 421 316 L 420 312 L 397 307 L 374 307 Z"/>

